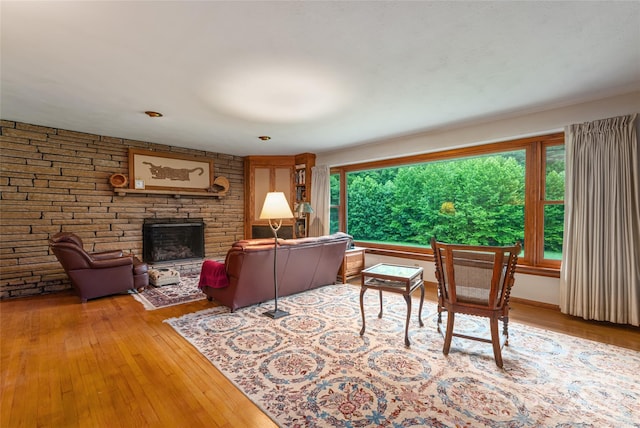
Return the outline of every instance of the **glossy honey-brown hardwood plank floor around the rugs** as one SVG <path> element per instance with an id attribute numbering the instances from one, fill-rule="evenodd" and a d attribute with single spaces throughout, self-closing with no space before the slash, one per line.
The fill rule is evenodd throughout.
<path id="1" fill-rule="evenodd" d="M 427 297 L 433 300 L 430 289 Z M 70 292 L 0 303 L 2 427 L 273 427 L 163 320 L 131 296 Z M 514 303 L 513 321 L 640 351 L 640 329 Z"/>

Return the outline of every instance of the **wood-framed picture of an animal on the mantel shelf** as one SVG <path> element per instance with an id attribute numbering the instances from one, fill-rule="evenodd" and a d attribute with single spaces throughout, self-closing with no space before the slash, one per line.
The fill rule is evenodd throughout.
<path id="1" fill-rule="evenodd" d="M 143 180 L 144 188 L 149 190 L 184 189 L 206 192 L 214 184 L 213 160 L 129 149 L 129 177 L 136 177 L 136 181 Z"/>

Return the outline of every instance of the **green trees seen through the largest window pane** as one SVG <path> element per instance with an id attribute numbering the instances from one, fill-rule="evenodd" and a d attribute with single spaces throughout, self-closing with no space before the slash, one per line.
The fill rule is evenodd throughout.
<path id="1" fill-rule="evenodd" d="M 416 245 L 431 236 L 522 242 L 524 155 L 516 154 L 349 173 L 347 230 L 358 240 Z"/>

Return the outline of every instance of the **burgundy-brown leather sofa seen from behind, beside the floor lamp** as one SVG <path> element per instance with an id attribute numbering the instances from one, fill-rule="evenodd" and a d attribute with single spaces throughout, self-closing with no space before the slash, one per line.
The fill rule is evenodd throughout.
<path id="1" fill-rule="evenodd" d="M 215 299 L 234 311 L 273 299 L 273 241 L 264 238 L 235 242 L 225 259 L 229 285 L 201 287 L 209 300 Z M 279 239 L 278 297 L 335 284 L 351 241 L 351 236 L 342 232 L 315 238 Z"/>

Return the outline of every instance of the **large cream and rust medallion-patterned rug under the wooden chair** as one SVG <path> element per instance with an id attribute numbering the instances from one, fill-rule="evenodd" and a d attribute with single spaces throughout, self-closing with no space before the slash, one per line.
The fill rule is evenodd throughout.
<path id="1" fill-rule="evenodd" d="M 277 424 L 286 427 L 638 427 L 640 353 L 514 322 L 504 370 L 490 344 L 454 338 L 448 357 L 425 302 L 414 301 L 404 347 L 406 304 L 326 286 L 280 299 L 291 313 L 262 315 L 272 302 L 229 313 L 216 307 L 166 320 Z M 487 332 L 481 318 L 459 330 Z M 464 352 L 463 352 L 464 351 Z"/>

